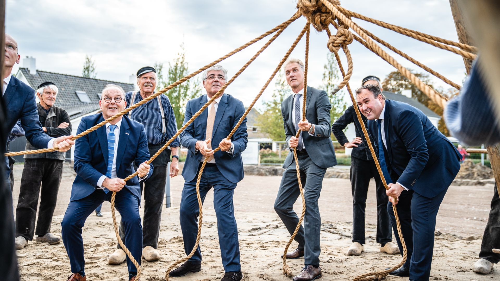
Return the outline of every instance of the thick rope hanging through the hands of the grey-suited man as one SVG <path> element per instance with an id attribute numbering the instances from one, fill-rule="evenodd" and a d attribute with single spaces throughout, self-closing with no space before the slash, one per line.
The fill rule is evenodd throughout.
<path id="1" fill-rule="evenodd" d="M 307 34 L 305 35 L 305 60 L 304 60 L 304 97 L 302 99 L 302 121 L 305 121 L 305 102 L 307 100 L 307 67 L 309 63 L 309 35 L 310 35 L 310 24 L 307 22 Z M 300 134 L 302 133 L 302 130 L 298 129 L 295 137 L 299 137 Z M 303 143 L 303 142 L 302 142 Z M 290 266 L 286 264 L 286 252 L 288 251 L 288 247 L 290 246 L 291 242 L 295 238 L 295 235 L 298 232 L 298 229 L 300 228 L 300 225 L 302 225 L 302 221 L 304 219 L 304 214 L 305 214 L 305 197 L 304 197 L 304 189 L 302 188 L 302 180 L 300 178 L 300 169 L 298 166 L 298 159 L 297 159 L 297 147 L 293 147 L 293 158 L 295 160 L 295 169 L 297 171 L 297 180 L 298 180 L 298 189 L 300 190 L 300 196 L 302 198 L 302 213 L 300 214 L 300 217 L 298 218 L 298 223 L 297 226 L 295 227 L 295 230 L 293 231 L 293 234 L 291 234 L 290 239 L 288 240 L 288 243 L 286 243 L 286 246 L 284 247 L 283 251 L 283 274 L 286 276 L 291 276 L 292 272 L 290 269 Z"/>

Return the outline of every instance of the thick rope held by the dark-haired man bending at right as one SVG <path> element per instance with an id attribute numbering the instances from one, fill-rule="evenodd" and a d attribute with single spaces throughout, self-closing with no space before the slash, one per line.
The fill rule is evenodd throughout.
<path id="1" fill-rule="evenodd" d="M 350 52 L 349 52 L 347 46 L 344 45 L 342 47 L 342 50 L 344 51 L 345 56 L 348 58 L 350 56 Z M 344 73 L 344 70 L 342 67 L 342 62 L 340 61 L 340 57 L 338 56 L 338 53 L 336 53 L 336 52 L 335 52 L 335 58 L 337 60 L 338 68 L 340 69 L 342 76 L 345 76 L 345 73 Z M 380 178 L 382 179 L 383 186 L 385 187 L 385 189 L 389 189 L 389 187 L 387 186 L 387 182 L 385 181 L 385 178 L 383 176 L 382 169 L 380 168 L 380 164 L 378 163 L 378 158 L 376 156 L 375 150 L 373 149 L 373 144 L 371 143 L 371 140 L 369 138 L 368 131 L 366 130 L 366 127 L 364 126 L 363 119 L 361 118 L 361 113 L 359 112 L 359 108 L 358 108 L 356 100 L 354 98 L 354 94 L 352 93 L 352 90 L 351 90 L 348 83 L 347 83 L 347 91 L 349 92 L 349 96 L 350 96 L 350 99 L 352 101 L 352 106 L 354 107 L 354 111 L 356 111 L 357 120 L 359 121 L 360 124 L 363 124 L 361 126 L 361 129 L 363 131 L 364 138 L 366 139 L 366 143 L 368 144 L 368 147 L 370 149 L 371 156 L 375 162 L 375 166 L 377 168 L 378 174 L 380 175 Z M 354 278 L 354 281 L 381 280 L 383 277 L 387 276 L 389 274 L 389 272 L 392 272 L 392 271 L 396 270 L 397 268 L 401 267 L 401 265 L 403 265 L 404 262 L 406 261 L 406 253 L 407 253 L 406 244 L 404 243 L 403 234 L 401 232 L 401 224 L 399 222 L 399 216 L 397 214 L 396 205 L 394 205 L 394 204 L 392 205 L 392 210 L 394 211 L 394 216 L 396 218 L 397 234 L 399 235 L 399 240 L 401 241 L 401 244 L 403 247 L 403 259 L 401 260 L 401 262 L 399 262 L 399 264 L 397 264 L 396 266 L 394 266 L 390 269 L 381 270 L 381 271 L 377 271 L 377 272 L 364 273 L 364 274 L 361 274 L 361 275 L 357 276 L 356 278 Z"/>

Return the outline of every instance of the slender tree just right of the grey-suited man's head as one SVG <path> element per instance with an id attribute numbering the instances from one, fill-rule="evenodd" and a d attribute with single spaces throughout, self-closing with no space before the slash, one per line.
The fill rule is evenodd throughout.
<path id="1" fill-rule="evenodd" d="M 331 103 L 330 123 L 333 123 L 344 113 L 347 108 L 347 103 L 343 99 L 342 94 L 340 94 L 341 92 L 337 92 L 333 95 L 331 94 L 331 91 L 340 80 L 335 55 L 332 52 L 328 52 L 328 54 L 326 54 L 326 63 L 324 64 L 323 69 L 323 78 L 321 80 L 322 84 L 318 88 L 325 90 L 328 94 L 328 98 Z"/>

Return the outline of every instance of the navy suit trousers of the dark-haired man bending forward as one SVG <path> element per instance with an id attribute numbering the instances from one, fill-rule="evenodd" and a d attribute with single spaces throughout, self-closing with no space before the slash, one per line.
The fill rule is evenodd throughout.
<path id="1" fill-rule="evenodd" d="M 436 215 L 447 190 L 446 187 L 432 198 L 424 197 L 413 190 L 403 190 L 399 195 L 396 209 L 408 251 L 404 265 L 409 267 L 410 280 L 427 281 L 429 279 Z M 387 211 L 402 255 L 403 248 L 397 235 L 396 219 L 390 201 L 387 203 Z"/>

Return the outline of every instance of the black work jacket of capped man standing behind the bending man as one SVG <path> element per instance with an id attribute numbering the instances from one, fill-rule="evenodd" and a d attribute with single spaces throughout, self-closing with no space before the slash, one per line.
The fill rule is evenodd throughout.
<path id="1" fill-rule="evenodd" d="M 361 114 L 361 119 L 363 119 L 364 127 L 366 128 L 366 117 Z M 364 134 L 361 128 L 361 125 L 359 124 L 359 121 L 356 116 L 356 111 L 354 110 L 354 107 L 349 106 L 345 110 L 345 112 L 340 116 L 332 125 L 331 125 L 331 132 L 335 136 L 335 138 L 338 140 L 338 143 L 340 145 L 344 145 L 345 142 L 349 142 L 352 139 L 347 139 L 345 136 L 345 133 L 343 132 L 343 129 L 347 127 L 348 124 L 354 122 L 354 127 L 356 130 L 356 136 L 361 137 L 362 141 L 361 143 L 357 144 L 356 146 L 352 147 L 352 151 L 350 152 L 350 155 L 352 157 L 356 157 L 358 159 L 362 160 L 373 160 L 373 157 L 371 157 L 371 152 L 370 148 L 368 147 L 368 144 L 366 143 L 366 139 L 364 138 Z M 367 128 L 366 128 L 367 130 Z M 370 140 L 373 143 L 373 137 L 370 135 Z"/>

